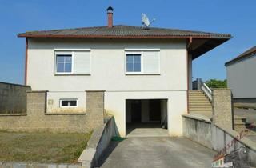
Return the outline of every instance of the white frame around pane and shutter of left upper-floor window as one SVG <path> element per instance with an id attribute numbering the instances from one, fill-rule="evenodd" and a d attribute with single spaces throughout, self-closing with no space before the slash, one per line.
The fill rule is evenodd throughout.
<path id="1" fill-rule="evenodd" d="M 89 73 L 74 73 L 74 52 L 76 51 L 87 51 L 90 52 L 90 49 L 54 49 L 54 75 L 90 75 L 91 72 L 91 52 L 89 53 Z M 71 58 L 72 58 L 72 67 L 71 67 L 71 72 L 57 72 L 57 55 L 58 52 L 66 52 L 66 55 L 70 55 L 71 54 Z M 65 55 L 65 54 L 62 54 Z"/>

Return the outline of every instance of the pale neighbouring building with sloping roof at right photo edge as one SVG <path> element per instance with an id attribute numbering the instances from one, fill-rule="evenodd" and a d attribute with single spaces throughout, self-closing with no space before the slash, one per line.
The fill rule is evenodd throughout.
<path id="1" fill-rule="evenodd" d="M 256 106 L 256 46 L 226 62 L 225 66 L 234 102 Z"/>

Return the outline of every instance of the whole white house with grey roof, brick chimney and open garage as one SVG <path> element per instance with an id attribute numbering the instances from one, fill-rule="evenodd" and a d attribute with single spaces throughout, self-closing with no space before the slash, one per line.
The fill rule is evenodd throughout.
<path id="1" fill-rule="evenodd" d="M 84 111 L 85 90 L 106 90 L 106 112 L 122 136 L 131 122 L 167 122 L 171 136 L 182 135 L 192 60 L 230 34 L 113 26 L 112 10 L 108 26 L 18 34 L 26 38 L 26 85 L 49 90 L 48 113 Z"/>

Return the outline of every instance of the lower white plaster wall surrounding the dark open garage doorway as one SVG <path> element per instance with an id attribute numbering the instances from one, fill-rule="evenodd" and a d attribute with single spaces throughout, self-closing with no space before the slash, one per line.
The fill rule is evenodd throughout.
<path id="1" fill-rule="evenodd" d="M 126 136 L 126 99 L 167 99 L 168 132 L 182 136 L 182 114 L 186 114 L 186 91 L 106 92 L 105 107 L 113 114 L 118 131 Z"/>

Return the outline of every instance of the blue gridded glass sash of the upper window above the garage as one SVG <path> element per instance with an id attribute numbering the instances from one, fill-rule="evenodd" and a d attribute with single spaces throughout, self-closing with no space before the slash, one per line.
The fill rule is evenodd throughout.
<path id="1" fill-rule="evenodd" d="M 126 54 L 126 72 L 141 72 L 141 54 Z"/>

